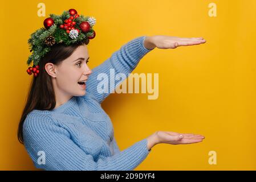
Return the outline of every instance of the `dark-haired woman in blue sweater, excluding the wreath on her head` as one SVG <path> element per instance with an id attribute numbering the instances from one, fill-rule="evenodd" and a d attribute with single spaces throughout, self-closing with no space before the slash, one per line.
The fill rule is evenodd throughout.
<path id="1" fill-rule="evenodd" d="M 55 22 L 58 21 L 55 19 Z M 52 35 L 57 39 L 55 34 Z M 97 91 L 100 82 L 97 75 L 109 75 L 109 69 L 128 75 L 141 58 L 156 47 L 174 49 L 201 43 L 205 43 L 202 38 L 140 36 L 92 70 L 87 65 L 88 39 L 69 46 L 62 42 L 50 44 L 50 51 L 41 55 L 36 67 L 39 71 L 31 82 L 18 129 L 18 139 L 25 144 L 35 167 L 46 170 L 133 170 L 156 144 L 202 142 L 202 135 L 156 131 L 120 151 L 113 136 L 111 119 L 102 109 L 101 102 L 121 82 L 109 88 L 107 93 Z M 39 54 L 35 48 L 34 53 Z"/>

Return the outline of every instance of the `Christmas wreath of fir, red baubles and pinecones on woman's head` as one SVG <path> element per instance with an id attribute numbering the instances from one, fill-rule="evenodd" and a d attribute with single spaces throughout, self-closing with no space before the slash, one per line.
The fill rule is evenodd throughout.
<path id="1" fill-rule="evenodd" d="M 89 39 L 94 39 L 96 33 L 92 30 L 96 19 L 90 16 L 79 15 L 75 9 L 63 11 L 62 15 L 50 14 L 50 18 L 43 21 L 44 28 L 39 28 L 31 34 L 28 40 L 30 52 L 32 54 L 27 60 L 27 65 L 32 62 L 32 67 L 27 69 L 27 73 L 38 76 L 38 63 L 54 44 L 66 44 L 70 46 L 74 43 L 89 43 Z"/>

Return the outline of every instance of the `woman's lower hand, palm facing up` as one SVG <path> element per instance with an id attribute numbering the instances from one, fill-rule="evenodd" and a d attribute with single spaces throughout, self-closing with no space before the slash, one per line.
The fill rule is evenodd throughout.
<path id="1" fill-rule="evenodd" d="M 199 134 L 176 133 L 172 131 L 157 131 L 148 139 L 148 150 L 159 143 L 192 144 L 202 142 L 205 137 Z"/>

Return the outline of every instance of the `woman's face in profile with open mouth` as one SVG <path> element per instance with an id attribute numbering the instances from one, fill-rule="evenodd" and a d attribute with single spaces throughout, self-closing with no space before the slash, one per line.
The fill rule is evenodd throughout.
<path id="1" fill-rule="evenodd" d="M 54 65 L 55 77 L 52 83 L 57 96 L 83 96 L 86 93 L 86 85 L 80 85 L 78 82 L 87 80 L 92 73 L 87 65 L 88 58 L 88 50 L 84 44 L 62 63 Z"/>

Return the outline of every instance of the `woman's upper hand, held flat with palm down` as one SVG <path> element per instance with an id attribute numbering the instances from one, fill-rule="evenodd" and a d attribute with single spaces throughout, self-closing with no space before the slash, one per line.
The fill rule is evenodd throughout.
<path id="1" fill-rule="evenodd" d="M 180 38 L 177 36 L 154 35 L 145 39 L 145 47 L 148 49 L 174 49 L 179 46 L 193 46 L 205 43 L 204 38 Z"/>

